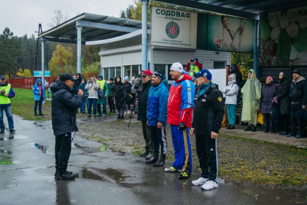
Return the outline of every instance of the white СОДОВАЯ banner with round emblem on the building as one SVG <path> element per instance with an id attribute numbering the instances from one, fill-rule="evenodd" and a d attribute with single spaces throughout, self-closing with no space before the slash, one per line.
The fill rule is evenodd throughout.
<path id="1" fill-rule="evenodd" d="M 152 7 L 153 46 L 196 49 L 197 13 Z"/>

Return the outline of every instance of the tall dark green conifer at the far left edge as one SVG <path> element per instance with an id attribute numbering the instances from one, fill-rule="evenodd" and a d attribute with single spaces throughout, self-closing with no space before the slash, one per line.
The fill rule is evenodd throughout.
<path id="1" fill-rule="evenodd" d="M 10 79 L 17 72 L 19 55 L 17 36 L 6 27 L 0 35 L 0 73 L 6 73 Z"/>

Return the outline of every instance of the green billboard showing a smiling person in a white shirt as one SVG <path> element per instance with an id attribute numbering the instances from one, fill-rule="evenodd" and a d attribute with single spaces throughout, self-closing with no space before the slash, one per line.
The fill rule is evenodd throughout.
<path id="1" fill-rule="evenodd" d="M 253 52 L 252 20 L 203 13 L 198 13 L 197 20 L 197 49 Z"/>

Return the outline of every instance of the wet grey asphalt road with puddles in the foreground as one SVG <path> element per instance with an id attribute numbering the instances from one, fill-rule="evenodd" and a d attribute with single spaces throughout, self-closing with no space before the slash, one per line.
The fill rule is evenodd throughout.
<path id="1" fill-rule="evenodd" d="M 108 120 L 113 117 L 116 116 L 108 116 Z M 165 173 L 164 167 L 153 168 L 145 165 L 142 158 L 112 152 L 106 144 L 79 136 L 73 141 L 69 161 L 69 171 L 77 177 L 57 181 L 54 179 L 55 138 L 51 122 L 35 123 L 16 115 L 14 122 L 15 134 L 7 131 L 0 134 L 0 205 L 306 203 L 307 192 L 247 187 L 221 179 L 218 189 L 202 191 L 191 184 L 199 177 L 198 173 L 187 180 L 178 180 L 179 173 Z"/>

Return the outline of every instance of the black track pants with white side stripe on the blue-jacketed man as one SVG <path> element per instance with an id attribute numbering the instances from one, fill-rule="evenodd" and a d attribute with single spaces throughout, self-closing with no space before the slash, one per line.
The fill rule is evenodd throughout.
<path id="1" fill-rule="evenodd" d="M 159 155 L 159 147 L 161 145 L 161 155 L 166 154 L 167 142 L 165 126 L 161 129 L 151 126 L 151 137 L 153 142 L 153 154 Z"/>

